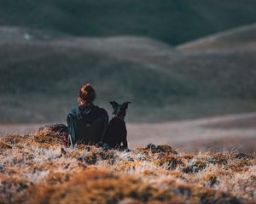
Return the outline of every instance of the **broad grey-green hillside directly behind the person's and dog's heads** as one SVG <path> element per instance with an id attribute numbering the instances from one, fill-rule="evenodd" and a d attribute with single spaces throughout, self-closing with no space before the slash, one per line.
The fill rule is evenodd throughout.
<path id="1" fill-rule="evenodd" d="M 109 114 L 109 100 L 130 100 L 129 122 L 256 110 L 252 50 L 194 54 L 143 37 L 55 39 L 1 31 L 9 37 L 0 41 L 1 122 L 64 121 L 84 82 L 96 87 L 96 104 Z M 27 32 L 32 40 L 24 38 Z"/>

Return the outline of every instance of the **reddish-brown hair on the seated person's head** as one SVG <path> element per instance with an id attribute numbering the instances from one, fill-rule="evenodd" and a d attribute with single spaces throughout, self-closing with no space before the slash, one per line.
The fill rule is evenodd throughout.
<path id="1" fill-rule="evenodd" d="M 96 98 L 95 89 L 90 86 L 90 83 L 84 84 L 79 90 L 79 104 L 88 105 L 92 103 Z"/>

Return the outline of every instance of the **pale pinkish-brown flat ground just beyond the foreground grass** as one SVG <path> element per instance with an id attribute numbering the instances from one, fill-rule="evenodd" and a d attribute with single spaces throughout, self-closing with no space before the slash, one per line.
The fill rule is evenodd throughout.
<path id="1" fill-rule="evenodd" d="M 0 136 L 30 134 L 45 124 L 0 124 Z M 202 118 L 180 122 L 129 123 L 128 142 L 131 148 L 153 144 L 170 144 L 179 152 L 200 150 L 256 150 L 256 112 Z"/>

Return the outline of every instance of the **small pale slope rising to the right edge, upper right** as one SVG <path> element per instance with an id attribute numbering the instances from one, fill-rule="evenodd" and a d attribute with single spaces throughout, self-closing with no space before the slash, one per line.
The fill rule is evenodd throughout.
<path id="1" fill-rule="evenodd" d="M 256 24 L 241 26 L 230 31 L 202 37 L 178 46 L 184 51 L 234 51 L 256 49 Z"/>

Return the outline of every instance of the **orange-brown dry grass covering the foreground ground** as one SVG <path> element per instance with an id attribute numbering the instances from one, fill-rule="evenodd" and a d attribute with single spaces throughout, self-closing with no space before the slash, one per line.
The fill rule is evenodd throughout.
<path id="1" fill-rule="evenodd" d="M 236 152 L 63 149 L 45 127 L 0 140 L 0 203 L 250 203 L 256 159 Z"/>

